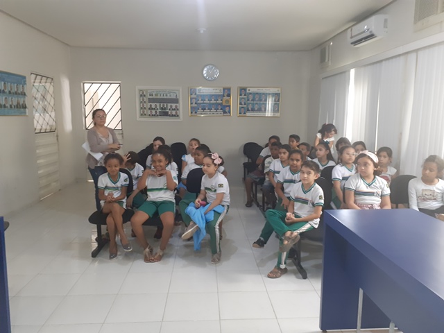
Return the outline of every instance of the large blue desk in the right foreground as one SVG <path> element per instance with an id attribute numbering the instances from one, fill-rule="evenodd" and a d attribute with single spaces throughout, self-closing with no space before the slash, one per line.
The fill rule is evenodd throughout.
<path id="1" fill-rule="evenodd" d="M 444 332 L 444 223 L 415 210 L 325 212 L 321 330 Z M 390 319 L 389 319 L 390 318 Z"/>

